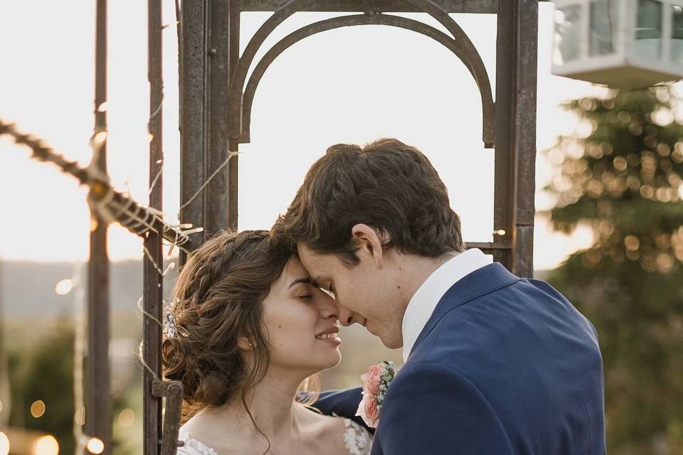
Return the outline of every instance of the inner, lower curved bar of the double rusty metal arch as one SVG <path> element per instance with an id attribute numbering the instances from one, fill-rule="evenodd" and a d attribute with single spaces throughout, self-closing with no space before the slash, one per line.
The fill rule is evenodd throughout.
<path id="1" fill-rule="evenodd" d="M 336 18 L 329 18 L 324 21 L 312 23 L 290 33 L 289 35 L 285 36 L 285 38 L 282 38 L 282 40 L 278 41 L 272 46 L 272 48 L 270 48 L 270 50 L 268 50 L 268 53 L 266 53 L 263 58 L 261 58 L 258 65 L 256 65 L 242 96 L 241 130 L 238 130 L 237 128 L 237 120 L 239 117 L 236 115 L 231 117 L 231 137 L 233 139 L 239 137 L 240 143 L 246 143 L 250 141 L 251 108 L 258 83 L 272 62 L 287 48 L 290 48 L 295 43 L 302 41 L 302 39 L 317 33 L 322 33 L 324 31 L 334 30 L 335 28 L 342 28 L 346 26 L 364 25 L 393 26 L 415 31 L 421 35 L 433 38 L 435 41 L 452 51 L 452 53 L 460 58 L 460 60 L 464 60 L 462 48 L 460 48 L 460 45 L 453 38 L 446 35 L 442 31 L 439 31 L 437 28 L 429 26 L 423 22 L 415 21 L 409 18 L 403 18 L 401 16 L 387 14 L 357 14 L 352 16 L 339 16 Z M 482 116 L 484 119 L 482 138 L 485 142 L 485 146 L 487 148 L 491 148 L 493 146 L 494 133 L 492 126 L 494 124 L 495 117 L 495 107 L 491 94 L 491 84 L 486 72 L 481 75 L 480 73 L 477 73 L 476 71 L 473 72 L 472 69 L 470 69 L 470 73 L 475 78 L 475 82 L 477 82 L 477 87 L 479 87 L 480 95 L 482 97 Z M 238 96 L 236 93 L 234 95 Z M 235 109 L 236 108 L 237 107 L 235 107 Z M 233 118 L 235 118 L 235 120 L 232 120 Z M 487 131 L 487 126 L 491 127 L 490 132 Z M 490 134 L 490 136 L 487 133 Z"/>

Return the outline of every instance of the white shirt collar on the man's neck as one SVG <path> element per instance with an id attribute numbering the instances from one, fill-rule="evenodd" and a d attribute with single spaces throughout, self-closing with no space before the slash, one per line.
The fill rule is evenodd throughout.
<path id="1" fill-rule="evenodd" d="M 408 360 L 415 341 L 418 340 L 420 332 L 425 328 L 425 324 L 429 321 L 443 294 L 466 275 L 492 262 L 492 259 L 482 253 L 482 250 L 472 248 L 449 259 L 425 279 L 408 302 L 406 314 L 403 314 L 401 332 L 403 333 L 404 362 Z"/>

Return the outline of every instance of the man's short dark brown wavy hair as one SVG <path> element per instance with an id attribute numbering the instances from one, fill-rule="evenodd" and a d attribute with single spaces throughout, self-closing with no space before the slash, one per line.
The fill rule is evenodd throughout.
<path id="1" fill-rule="evenodd" d="M 427 157 L 398 139 L 360 147 L 337 144 L 316 161 L 297 195 L 271 230 L 271 242 L 295 252 L 302 242 L 315 252 L 359 263 L 351 228 L 366 224 L 388 234 L 385 248 L 423 257 L 464 251 L 460 218 Z"/>

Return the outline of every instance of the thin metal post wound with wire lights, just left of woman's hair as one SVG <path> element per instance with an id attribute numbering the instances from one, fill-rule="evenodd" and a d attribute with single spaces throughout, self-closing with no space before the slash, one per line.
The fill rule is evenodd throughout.
<path id="1" fill-rule="evenodd" d="M 147 1 L 147 47 L 149 79 L 149 122 L 151 135 L 149 142 L 149 185 L 153 186 L 149 193 L 149 207 L 161 211 L 162 203 L 162 167 L 164 152 L 162 149 L 162 102 L 164 85 L 162 78 L 162 3 L 161 0 Z M 162 398 L 154 393 L 154 382 L 162 376 L 162 321 L 163 311 L 163 277 L 164 252 L 162 250 L 161 232 L 149 230 L 144 239 L 144 289 L 142 295 L 143 319 L 143 351 L 142 355 L 147 368 L 143 375 L 144 402 L 144 454 L 158 455 L 162 439 Z M 150 316 L 151 315 L 151 316 Z M 156 321 L 154 320 L 156 319 Z M 150 371 L 152 370 L 152 371 Z"/>

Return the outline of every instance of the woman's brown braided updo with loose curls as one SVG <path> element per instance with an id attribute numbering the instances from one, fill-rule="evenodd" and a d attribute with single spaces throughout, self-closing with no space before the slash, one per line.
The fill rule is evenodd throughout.
<path id="1" fill-rule="evenodd" d="M 263 380 L 270 355 L 263 299 L 289 258 L 268 245 L 268 231 L 220 232 L 198 247 L 179 273 L 171 314 L 181 334 L 164 338 L 164 376 L 184 387 L 182 422 L 221 406 Z M 253 349 L 248 364 L 238 346 Z M 248 410 L 248 409 L 247 409 Z"/>

